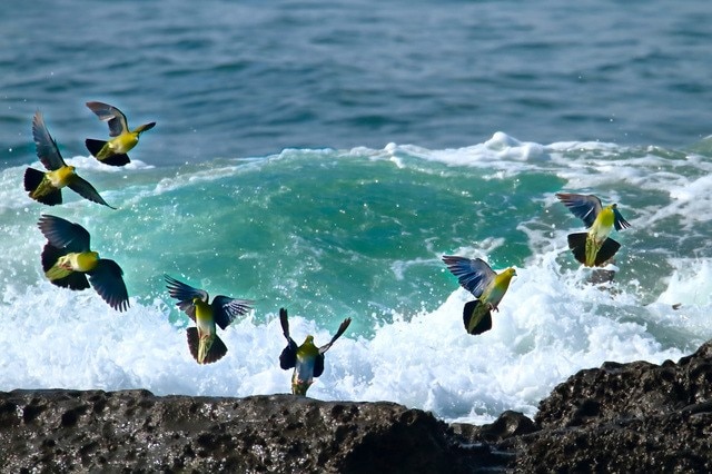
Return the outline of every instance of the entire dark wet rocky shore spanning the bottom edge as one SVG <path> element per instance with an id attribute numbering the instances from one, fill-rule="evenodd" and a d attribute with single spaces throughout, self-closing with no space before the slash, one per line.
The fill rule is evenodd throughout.
<path id="1" fill-rule="evenodd" d="M 394 403 L 0 392 L 0 470 L 55 472 L 712 472 L 712 343 L 662 365 L 605 363 L 534 419 L 447 425 Z"/>

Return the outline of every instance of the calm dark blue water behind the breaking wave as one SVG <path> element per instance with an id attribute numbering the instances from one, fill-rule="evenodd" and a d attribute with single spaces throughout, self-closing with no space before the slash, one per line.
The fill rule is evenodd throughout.
<path id="1" fill-rule="evenodd" d="M 156 120 L 150 164 L 284 148 L 431 149 L 495 131 L 685 146 L 710 134 L 708 1 L 86 0 L 0 7 L 0 162 L 46 113 L 66 155 Z"/>

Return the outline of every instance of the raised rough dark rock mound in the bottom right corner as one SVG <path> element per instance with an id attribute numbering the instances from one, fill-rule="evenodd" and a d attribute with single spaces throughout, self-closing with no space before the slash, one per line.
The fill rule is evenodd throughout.
<path id="1" fill-rule="evenodd" d="M 540 404 L 510 440 L 521 472 L 712 472 L 712 343 L 676 364 L 605 363 Z"/>

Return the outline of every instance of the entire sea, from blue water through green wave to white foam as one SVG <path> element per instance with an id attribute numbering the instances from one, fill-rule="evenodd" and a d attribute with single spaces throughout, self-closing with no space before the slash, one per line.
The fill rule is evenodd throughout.
<path id="1" fill-rule="evenodd" d="M 605 361 L 712 337 L 712 9 L 706 1 L 85 0 L 0 7 L 0 389 L 289 391 L 289 310 L 326 344 L 309 396 L 488 423 Z M 123 168 L 85 107 L 156 121 Z M 117 209 L 22 188 L 41 110 Z M 556 192 L 617 203 L 612 282 L 571 256 Z M 126 313 L 52 286 L 42 214 L 123 269 Z M 516 269 L 492 330 L 443 255 Z M 253 299 L 199 366 L 164 282 Z"/>

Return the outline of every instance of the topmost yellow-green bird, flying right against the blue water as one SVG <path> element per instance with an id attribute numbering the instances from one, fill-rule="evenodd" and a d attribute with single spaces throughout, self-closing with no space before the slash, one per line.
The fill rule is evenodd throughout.
<path id="1" fill-rule="evenodd" d="M 130 130 L 126 116 L 116 107 L 103 102 L 87 102 L 87 107 L 99 117 L 99 120 L 108 122 L 109 136 L 113 137 L 109 141 L 93 138 L 85 140 L 89 152 L 107 165 L 123 166 L 130 162 L 126 154 L 138 144 L 139 135 L 156 126 L 156 122 L 151 121 Z"/>

